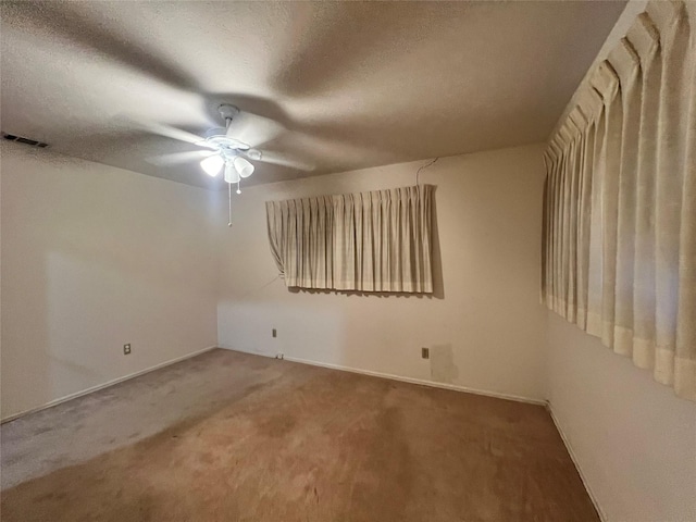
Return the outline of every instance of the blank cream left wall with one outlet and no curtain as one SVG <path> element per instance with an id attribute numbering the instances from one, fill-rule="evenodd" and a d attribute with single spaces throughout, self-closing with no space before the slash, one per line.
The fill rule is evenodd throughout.
<path id="1" fill-rule="evenodd" d="M 2 418 L 215 345 L 216 195 L 1 147 Z"/>

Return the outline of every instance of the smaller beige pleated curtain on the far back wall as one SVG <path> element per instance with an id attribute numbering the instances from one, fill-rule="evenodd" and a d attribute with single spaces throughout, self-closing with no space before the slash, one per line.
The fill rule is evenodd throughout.
<path id="1" fill-rule="evenodd" d="M 419 185 L 266 202 L 288 287 L 432 293 L 431 200 Z"/>

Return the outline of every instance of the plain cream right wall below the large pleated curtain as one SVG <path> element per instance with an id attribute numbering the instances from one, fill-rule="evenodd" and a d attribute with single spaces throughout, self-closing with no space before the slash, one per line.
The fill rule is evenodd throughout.
<path id="1" fill-rule="evenodd" d="M 696 405 L 550 313 L 549 401 L 609 521 L 696 520 Z"/>

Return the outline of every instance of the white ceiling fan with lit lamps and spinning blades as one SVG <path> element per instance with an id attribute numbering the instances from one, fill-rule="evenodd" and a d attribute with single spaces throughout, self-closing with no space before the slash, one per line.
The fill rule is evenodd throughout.
<path id="1" fill-rule="evenodd" d="M 239 189 L 241 179 L 253 174 L 254 165 L 251 161 L 275 163 L 303 171 L 313 170 L 313 166 L 306 163 L 252 147 L 257 142 L 262 145 L 273 139 L 283 128 L 278 123 L 256 114 L 241 112 L 237 107 L 229 103 L 221 104 L 217 108 L 217 112 L 225 122 L 225 126 L 209 129 L 204 137 L 167 125 L 146 124 L 148 130 L 187 141 L 203 149 L 158 156 L 149 158 L 148 161 L 161 166 L 191 161 L 202 157 L 200 166 L 203 172 L 211 177 L 216 177 L 220 173 L 223 173 L 223 178 L 227 184 L 231 186 L 237 184 L 237 194 L 241 194 Z M 236 124 L 237 121 L 239 121 L 239 124 Z"/>

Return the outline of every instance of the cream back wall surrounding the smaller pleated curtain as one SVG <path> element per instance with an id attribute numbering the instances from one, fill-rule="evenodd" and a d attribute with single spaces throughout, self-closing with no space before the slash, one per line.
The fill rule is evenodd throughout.
<path id="1" fill-rule="evenodd" d="M 220 345 L 544 399 L 542 150 L 443 158 L 421 173 L 437 186 L 444 284 L 432 298 L 289 291 L 273 281 L 264 209 L 272 199 L 412 185 L 423 161 L 245 189 L 233 227 L 224 211 L 217 219 Z M 421 359 L 424 346 L 431 361 Z"/>

